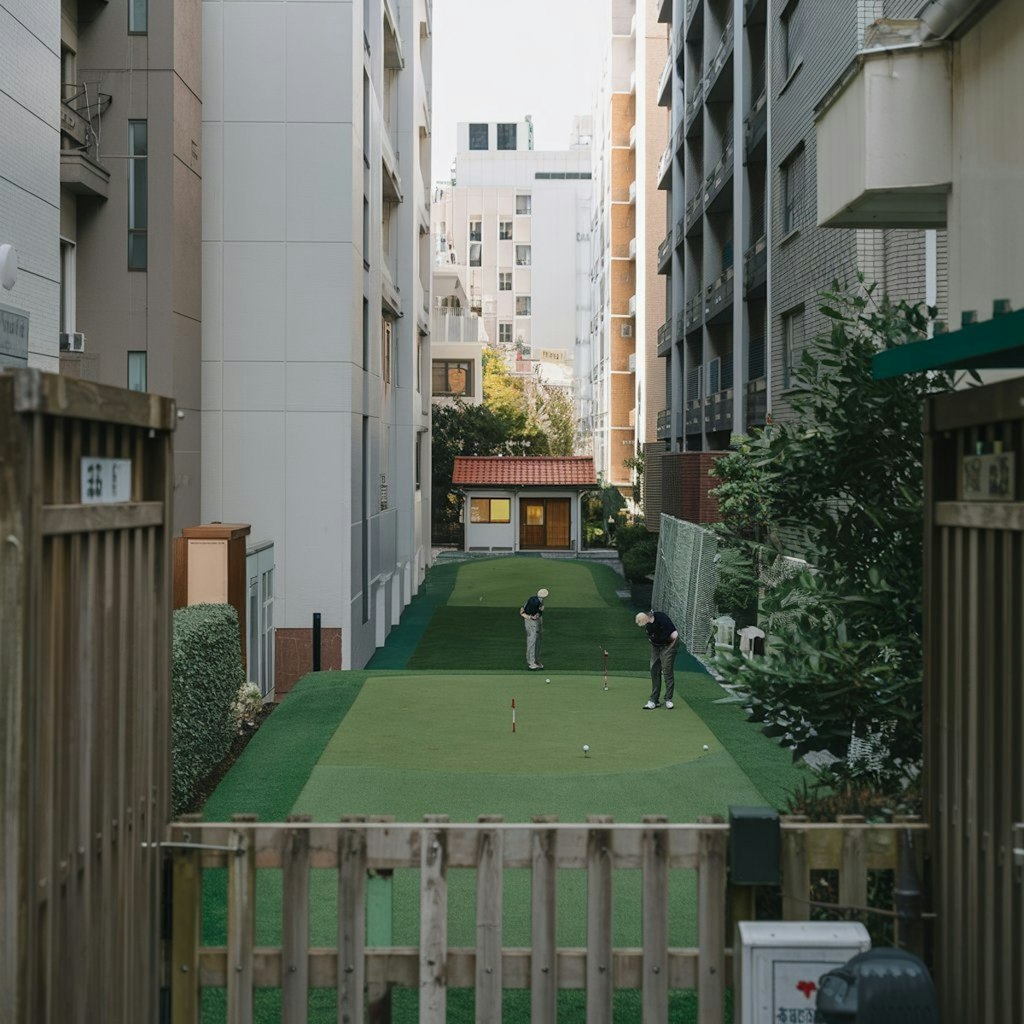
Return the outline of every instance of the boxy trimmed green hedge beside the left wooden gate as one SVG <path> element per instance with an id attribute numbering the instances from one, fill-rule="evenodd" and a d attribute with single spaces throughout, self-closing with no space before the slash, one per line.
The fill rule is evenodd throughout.
<path id="1" fill-rule="evenodd" d="M 224 759 L 237 725 L 231 705 L 245 683 L 239 616 L 229 604 L 174 612 L 171 642 L 171 808 L 180 814 Z"/>

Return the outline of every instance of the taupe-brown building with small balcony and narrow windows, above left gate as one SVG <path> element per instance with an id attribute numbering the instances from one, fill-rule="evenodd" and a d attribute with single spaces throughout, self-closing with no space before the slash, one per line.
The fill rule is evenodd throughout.
<path id="1" fill-rule="evenodd" d="M 50 344 L 55 351 L 59 341 L 62 374 L 175 399 L 174 524 L 193 525 L 202 436 L 199 25 L 181 5 L 154 0 L 23 6 L 32 8 L 25 24 L 51 6 L 60 26 L 59 68 L 41 66 L 47 94 L 59 89 L 60 98 L 59 229 L 48 240 L 59 261 L 59 323 Z"/>

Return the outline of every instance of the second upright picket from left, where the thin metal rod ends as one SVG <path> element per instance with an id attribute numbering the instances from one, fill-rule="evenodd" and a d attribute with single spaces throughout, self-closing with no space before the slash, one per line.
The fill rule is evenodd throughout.
<path id="1" fill-rule="evenodd" d="M 238 824 L 255 814 L 232 814 Z M 256 846 L 250 828 L 232 828 L 228 836 L 238 853 L 227 861 L 227 1024 L 253 1019 L 253 947 L 256 941 Z"/>

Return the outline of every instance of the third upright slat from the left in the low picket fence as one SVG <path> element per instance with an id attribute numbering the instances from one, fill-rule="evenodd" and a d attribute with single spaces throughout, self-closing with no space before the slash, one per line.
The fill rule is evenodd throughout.
<path id="1" fill-rule="evenodd" d="M 292 815 L 289 821 L 308 821 Z M 258 861 L 257 854 L 257 861 Z M 306 1024 L 309 1011 L 309 831 L 292 828 L 285 845 L 281 887 L 283 1024 Z"/>

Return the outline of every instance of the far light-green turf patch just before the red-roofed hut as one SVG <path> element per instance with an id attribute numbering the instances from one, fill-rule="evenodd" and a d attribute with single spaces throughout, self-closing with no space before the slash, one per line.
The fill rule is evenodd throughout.
<path id="1" fill-rule="evenodd" d="M 614 577 L 606 566 L 595 567 Z M 552 609 L 603 608 L 609 603 L 598 592 L 589 565 L 557 559 L 495 558 L 460 565 L 447 604 L 515 610 L 542 588 L 550 591 L 546 604 Z"/>

